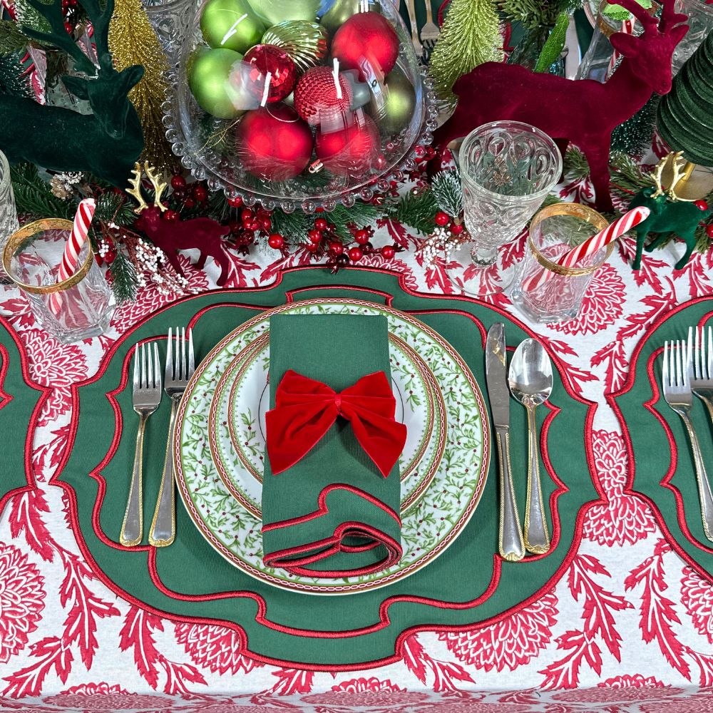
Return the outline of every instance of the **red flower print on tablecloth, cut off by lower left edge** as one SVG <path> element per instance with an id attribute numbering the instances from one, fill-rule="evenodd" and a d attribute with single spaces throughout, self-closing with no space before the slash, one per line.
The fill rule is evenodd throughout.
<path id="1" fill-rule="evenodd" d="M 0 663 L 24 649 L 42 618 L 44 580 L 27 555 L 0 543 Z"/>

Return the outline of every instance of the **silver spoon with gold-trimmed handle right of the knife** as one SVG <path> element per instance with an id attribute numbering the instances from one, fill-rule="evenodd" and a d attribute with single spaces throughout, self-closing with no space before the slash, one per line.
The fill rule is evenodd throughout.
<path id="1" fill-rule="evenodd" d="M 540 485 L 540 448 L 538 447 L 535 407 L 552 392 L 552 364 L 544 347 L 536 339 L 525 339 L 515 350 L 508 376 L 510 391 L 528 410 L 529 451 L 528 500 L 525 506 L 525 549 L 542 555 L 550 549 L 550 535 L 542 502 Z"/>

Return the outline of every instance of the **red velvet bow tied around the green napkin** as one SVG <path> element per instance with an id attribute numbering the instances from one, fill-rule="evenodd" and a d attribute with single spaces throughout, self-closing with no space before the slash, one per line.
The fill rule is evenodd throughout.
<path id="1" fill-rule="evenodd" d="M 384 478 L 406 443 L 406 426 L 394 421 L 396 399 L 383 371 L 362 376 L 337 394 L 327 384 L 286 371 L 267 411 L 267 455 L 272 473 L 282 473 L 309 453 L 343 416 L 352 423 L 356 440 Z"/>

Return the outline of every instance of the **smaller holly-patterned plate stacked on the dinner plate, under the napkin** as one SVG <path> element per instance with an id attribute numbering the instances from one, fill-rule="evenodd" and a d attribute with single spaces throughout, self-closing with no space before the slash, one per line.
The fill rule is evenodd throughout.
<path id="1" fill-rule="evenodd" d="M 414 506 L 438 469 L 446 447 L 446 406 L 433 374 L 399 337 L 389 336 L 396 420 L 406 424 L 399 460 L 401 514 Z M 247 352 L 247 354 L 246 354 Z M 270 408 L 269 335 L 235 356 L 218 382 L 209 414 L 210 449 L 225 486 L 248 511 L 262 518 L 265 413 Z"/>

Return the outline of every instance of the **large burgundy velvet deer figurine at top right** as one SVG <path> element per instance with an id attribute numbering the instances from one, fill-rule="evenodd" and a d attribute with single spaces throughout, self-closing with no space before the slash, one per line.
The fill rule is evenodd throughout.
<path id="1" fill-rule="evenodd" d="M 635 0 L 617 0 L 634 14 L 644 31 L 640 36 L 617 33 L 612 46 L 624 57 L 607 83 L 573 81 L 535 73 L 517 64 L 486 62 L 453 86 L 458 108 L 438 129 L 434 143 L 445 148 L 489 121 L 516 120 L 532 124 L 557 140 L 560 150 L 572 142 L 587 157 L 597 208 L 612 210 L 609 190 L 609 151 L 612 130 L 632 117 L 652 91 L 671 89 L 671 57 L 688 30 L 688 18 L 674 11 L 675 0 L 661 0 L 661 19 Z"/>

